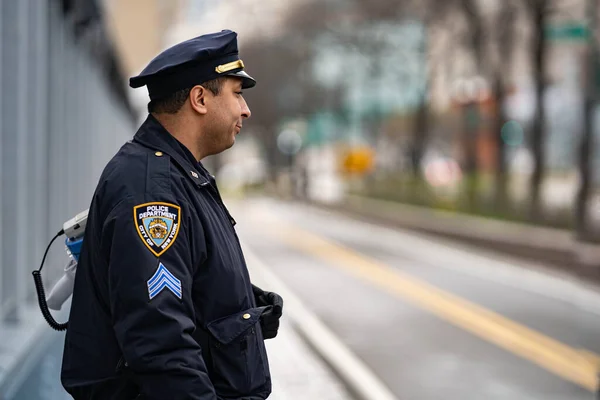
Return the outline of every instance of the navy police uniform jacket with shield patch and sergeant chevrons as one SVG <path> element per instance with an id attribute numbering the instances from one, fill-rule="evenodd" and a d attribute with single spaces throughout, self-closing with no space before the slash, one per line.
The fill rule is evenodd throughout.
<path id="1" fill-rule="evenodd" d="M 250 278 L 214 179 L 152 116 L 89 209 L 61 380 L 75 399 L 265 399 Z"/>

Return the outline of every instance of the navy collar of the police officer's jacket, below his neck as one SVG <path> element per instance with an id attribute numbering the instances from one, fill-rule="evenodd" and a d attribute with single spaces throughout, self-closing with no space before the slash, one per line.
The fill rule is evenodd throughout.
<path id="1" fill-rule="evenodd" d="M 209 184 L 210 175 L 207 174 L 202 164 L 196 161 L 192 153 L 151 114 L 148 114 L 133 137 L 133 141 L 169 155 L 197 185 Z"/>

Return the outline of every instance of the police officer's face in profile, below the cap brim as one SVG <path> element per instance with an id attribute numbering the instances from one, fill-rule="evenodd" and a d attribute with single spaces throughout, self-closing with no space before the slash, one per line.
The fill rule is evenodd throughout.
<path id="1" fill-rule="evenodd" d="M 216 154 L 233 146 L 244 119 L 250 118 L 251 113 L 242 96 L 242 80 L 239 78 L 225 78 L 221 92 L 210 96 L 210 107 L 207 107 L 210 129 L 207 134 Z"/>

